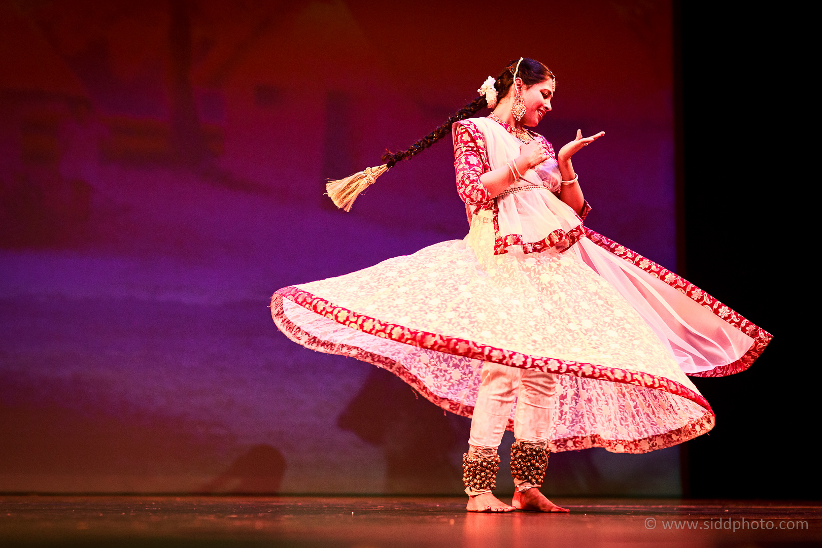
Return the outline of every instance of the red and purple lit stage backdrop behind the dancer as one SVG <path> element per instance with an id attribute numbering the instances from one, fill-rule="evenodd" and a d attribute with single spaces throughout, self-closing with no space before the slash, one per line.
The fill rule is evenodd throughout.
<path id="1" fill-rule="evenodd" d="M 669 3 L 500 9 L 0 5 L 0 490 L 459 492 L 467 421 L 298 348 L 266 303 L 464 237 L 447 142 L 351 214 L 324 181 L 427 134 L 520 56 L 557 75 L 538 131 L 607 132 L 575 159 L 587 222 L 676 266 Z M 557 454 L 548 485 L 677 494 L 677 449 Z"/>

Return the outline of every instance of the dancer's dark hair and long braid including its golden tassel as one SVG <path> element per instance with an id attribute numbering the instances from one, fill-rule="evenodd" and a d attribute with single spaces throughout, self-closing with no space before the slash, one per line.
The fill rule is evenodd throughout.
<path id="1" fill-rule="evenodd" d="M 553 73 L 548 70 L 548 67 L 543 63 L 534 61 L 533 59 L 521 59 L 520 71 L 517 76 L 522 78 L 524 85 L 533 85 L 537 82 L 543 81 L 548 77 L 554 77 Z M 514 81 L 515 69 L 512 66 L 506 67 L 500 76 L 496 77 L 494 88 L 496 89 L 497 97 L 505 97 L 510 86 Z M 350 211 L 354 200 L 357 199 L 360 192 L 364 191 L 369 185 L 376 181 L 376 177 L 380 177 L 386 173 L 390 168 L 393 168 L 397 162 L 411 159 L 414 155 L 426 150 L 429 146 L 442 139 L 451 132 L 451 127 L 455 122 L 464 120 L 478 113 L 480 108 L 487 107 L 487 99 L 484 94 L 473 99 L 469 104 L 460 108 L 457 113 L 448 117 L 446 123 L 437 127 L 434 131 L 424 136 L 422 139 L 409 146 L 406 150 L 399 152 L 390 152 L 386 150 L 386 154 L 382 155 L 382 161 L 385 162 L 380 166 L 374 168 L 365 168 L 363 171 L 349 175 L 344 179 L 332 181 L 329 179 L 326 184 L 328 196 L 335 203 L 335 205 L 343 210 Z"/>

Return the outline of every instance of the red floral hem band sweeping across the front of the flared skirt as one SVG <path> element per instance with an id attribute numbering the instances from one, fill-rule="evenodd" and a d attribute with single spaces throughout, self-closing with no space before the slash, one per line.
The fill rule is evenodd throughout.
<path id="1" fill-rule="evenodd" d="M 710 410 L 711 408 L 708 400 L 701 394 L 697 394 L 685 385 L 665 377 L 628 371 L 618 367 L 596 366 L 583 361 L 563 361 L 553 357 L 532 356 L 477 343 L 466 338 L 447 337 L 446 335 L 430 333 L 420 329 L 410 329 L 404 325 L 390 324 L 371 316 L 358 314 L 342 306 L 336 306 L 322 297 L 317 297 L 310 292 L 293 286 L 278 289 L 275 295 L 286 297 L 306 310 L 324 316 L 329 320 L 334 320 L 340 325 L 357 329 L 375 337 L 390 338 L 397 343 L 410 344 L 419 348 L 470 357 L 476 360 L 493 361 L 505 366 L 520 367 L 521 369 L 576 375 L 596 380 L 610 380 L 611 382 L 663 390 L 690 399 L 690 401 L 705 409 Z"/>

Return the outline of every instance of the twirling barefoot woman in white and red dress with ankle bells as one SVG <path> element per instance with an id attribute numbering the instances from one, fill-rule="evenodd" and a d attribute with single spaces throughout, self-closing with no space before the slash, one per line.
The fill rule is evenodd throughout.
<path id="1" fill-rule="evenodd" d="M 297 343 L 383 367 L 441 408 L 472 417 L 470 511 L 566 512 L 539 487 L 550 451 L 663 449 L 713 427 L 686 375 L 744 371 L 771 335 L 677 274 L 584 227 L 571 157 L 527 130 L 556 77 L 520 58 L 477 99 L 386 163 L 329 183 L 349 210 L 395 163 L 452 135 L 470 230 L 344 276 L 279 289 L 275 324 Z M 471 117 L 481 108 L 487 117 Z M 492 494 L 513 430 L 512 503 Z"/>

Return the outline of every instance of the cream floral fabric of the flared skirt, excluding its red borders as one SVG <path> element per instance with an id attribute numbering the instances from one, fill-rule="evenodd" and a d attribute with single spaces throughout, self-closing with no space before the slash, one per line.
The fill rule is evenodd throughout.
<path id="1" fill-rule="evenodd" d="M 617 375 L 649 374 L 699 394 L 653 329 L 578 254 L 526 256 L 512 247 L 495 256 L 489 215 L 476 215 L 464 240 L 297 287 L 409 329 L 610 367 Z M 295 327 L 287 329 L 280 321 L 280 329 L 298 343 L 349 355 L 354 354 L 346 349 L 359 348 L 389 358 L 437 398 L 459 403 L 457 412 L 470 416 L 473 411 L 483 361 L 367 334 L 288 299 L 282 300 L 282 317 Z M 328 344 L 320 348 L 308 338 Z M 639 453 L 680 443 L 713 426 L 712 412 L 665 390 L 559 377 L 552 450 L 603 446 Z"/>

